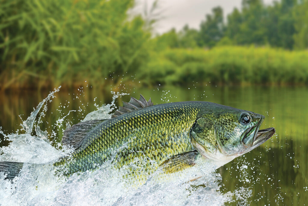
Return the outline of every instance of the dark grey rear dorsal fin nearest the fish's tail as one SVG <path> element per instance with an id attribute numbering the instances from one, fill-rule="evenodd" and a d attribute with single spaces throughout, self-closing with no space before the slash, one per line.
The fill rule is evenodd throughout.
<path id="1" fill-rule="evenodd" d="M 107 119 L 105 119 L 107 120 Z M 82 146 L 87 134 L 99 123 L 105 120 L 89 120 L 74 124 L 63 132 L 62 144 L 78 149 Z"/>

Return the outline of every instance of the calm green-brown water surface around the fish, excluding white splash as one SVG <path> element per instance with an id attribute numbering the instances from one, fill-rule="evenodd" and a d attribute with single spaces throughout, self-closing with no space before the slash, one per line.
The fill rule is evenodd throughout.
<path id="1" fill-rule="evenodd" d="M 261 128 L 275 127 L 277 135 L 244 157 L 219 168 L 217 171 L 222 176 L 221 190 L 227 192 L 249 187 L 252 190 L 252 196 L 248 198 L 251 205 L 306 204 L 308 199 L 307 87 L 195 88 L 193 86 L 189 89 L 188 87 L 128 89 L 126 92 L 136 98 L 139 98 L 139 94 L 143 94 L 146 99 L 151 97 L 154 104 L 165 103 L 168 100 L 170 102 L 201 100 L 263 114 L 265 121 Z M 7 91 L 0 94 L 2 131 L 12 133 L 20 129 L 19 124 L 22 120 L 19 115 L 25 120 L 33 111 L 33 107 L 36 107 L 48 93 L 49 91 Z M 68 111 L 83 110 L 71 112 L 67 117 L 67 120 L 75 124 L 87 113 L 96 110 L 94 103 L 101 106 L 110 103 L 112 99 L 110 91 L 89 88 L 85 88 L 83 92 L 77 89 L 61 90 L 56 96 L 57 98 L 48 104 L 48 111 L 41 124 L 41 128 L 43 130 L 46 128 L 48 133 L 56 128 L 56 120 L 67 115 Z M 129 101 L 129 96 L 119 98 L 116 104 L 120 105 L 122 100 Z M 0 143 L 1 146 L 7 144 L 8 141 Z"/>

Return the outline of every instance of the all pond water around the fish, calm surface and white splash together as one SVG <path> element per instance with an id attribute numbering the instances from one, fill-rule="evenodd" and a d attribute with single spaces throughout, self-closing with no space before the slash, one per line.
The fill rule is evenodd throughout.
<path id="1" fill-rule="evenodd" d="M 1 131 L 6 137 L 4 138 L 0 134 L 2 140 L 0 142 L 2 147 L 0 161 L 9 161 L 10 157 L 12 161 L 21 161 L 28 155 L 27 160 L 35 162 L 35 159 L 43 161 L 48 160 L 48 156 L 50 156 L 50 159 L 61 156 L 61 153 L 65 153 L 65 151 L 62 151 L 57 143 L 61 141 L 63 129 L 66 128 L 65 124 L 67 122 L 76 124 L 91 111 L 97 110 L 104 104 L 110 104 L 113 97 L 110 91 L 95 90 L 87 87 L 78 90 L 60 90 L 55 93 L 55 98 L 51 98 L 52 102 L 47 101 L 48 109 L 41 115 L 41 121 L 37 122 L 37 125 L 43 131 L 46 130 L 44 134 L 48 138 L 48 140 L 44 141 L 45 143 L 40 142 L 40 144 L 35 142 L 35 132 L 32 134 L 33 136 L 29 137 L 17 137 L 16 135 L 25 133 L 21 131 L 22 126 L 20 124 L 22 124 L 22 120 L 26 120 L 30 116 L 30 113 L 47 97 L 50 91 L 26 90 L 1 93 L 0 127 L 2 127 Z M 174 205 L 202 203 L 212 203 L 213 205 L 306 204 L 308 198 L 307 87 L 229 87 L 213 85 L 142 89 L 128 87 L 128 89 L 121 89 L 121 92 L 130 93 L 130 95 L 117 98 L 115 101 L 117 106 L 122 106 L 121 101 L 129 101 L 130 96 L 139 98 L 139 94 L 142 94 L 146 99 L 151 97 L 154 104 L 198 100 L 253 111 L 265 116 L 261 129 L 274 127 L 276 128 L 276 135 L 253 151 L 229 162 L 216 171 L 212 171 L 212 175 L 206 176 L 196 183 L 190 183 L 189 186 L 184 183 L 176 185 L 177 183 L 175 182 L 172 182 L 173 186 L 160 185 L 158 187 L 157 184 L 152 184 L 151 186 L 143 186 L 141 189 L 138 188 L 133 192 L 119 189 L 120 193 L 121 191 L 123 193 L 112 197 L 110 194 L 100 196 L 100 191 L 106 190 L 107 187 L 112 185 L 112 182 L 115 185 L 109 189 L 116 189 L 120 187 L 119 184 L 121 183 L 120 180 L 110 181 L 104 179 L 104 174 L 107 174 L 107 170 L 104 168 L 100 170 L 100 173 L 88 174 L 88 176 L 92 175 L 91 178 L 81 175 L 75 177 L 75 179 L 57 182 L 57 180 L 48 177 L 49 181 L 45 181 L 45 184 L 49 185 L 48 187 L 41 183 L 44 180 L 39 180 L 41 181 L 39 182 L 34 179 L 27 180 L 29 181 L 27 182 L 25 179 L 18 179 L 17 181 L 20 181 L 19 185 L 30 183 L 30 186 L 20 188 L 20 190 L 18 190 L 18 186 L 8 189 L 11 183 L 8 184 L 8 182 L 0 180 L 0 202 L 25 205 L 31 204 L 34 200 L 37 201 L 37 204 L 77 205 L 82 203 Z M 105 109 L 106 107 L 102 108 Z M 69 111 L 71 112 L 69 113 Z M 108 111 L 103 112 L 104 115 L 108 115 Z M 8 136 L 11 133 L 14 137 Z M 39 135 L 36 134 L 36 136 Z M 29 148 L 22 145 L 20 138 L 25 138 L 24 144 L 28 144 Z M 19 145 L 21 148 L 13 148 L 12 145 L 14 144 Z M 47 144 L 52 146 L 48 147 Z M 31 149 L 31 147 L 39 145 L 43 145 L 43 148 Z M 49 150 L 50 154 L 48 154 Z M 40 156 L 44 156 L 44 158 L 40 159 Z M 25 174 L 27 172 L 31 174 L 33 171 L 26 170 Z M 104 182 L 100 182 L 100 179 L 103 179 Z M 39 183 L 35 185 L 35 181 Z M 105 183 L 106 181 L 109 181 L 108 184 Z M 50 184 L 55 186 L 50 187 Z M 93 186 L 95 184 L 100 186 Z M 186 185 L 187 187 L 183 186 L 180 190 L 178 189 L 182 187 L 180 185 Z M 76 187 L 80 187 L 82 190 L 75 192 L 75 196 L 72 194 L 67 195 L 67 193 L 73 193 L 73 188 Z M 42 188 L 41 191 L 40 188 Z M 124 193 L 125 195 L 123 195 Z M 91 197 L 91 195 L 93 196 Z M 80 197 L 79 199 L 77 198 L 78 201 L 76 197 Z M 92 202 L 88 200 L 83 202 L 84 200 L 81 200 L 81 197 L 92 198 Z M 16 200 L 12 200 L 12 198 Z M 72 200 L 74 198 L 75 200 Z M 177 200 L 175 201 L 175 199 Z"/>

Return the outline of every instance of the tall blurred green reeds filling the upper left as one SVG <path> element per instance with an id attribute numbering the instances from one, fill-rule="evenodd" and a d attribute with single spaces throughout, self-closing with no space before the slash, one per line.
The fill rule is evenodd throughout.
<path id="1" fill-rule="evenodd" d="M 0 0 L 0 82 L 72 86 L 133 74 L 148 59 L 133 0 Z M 116 78 L 114 78 L 117 81 Z"/>

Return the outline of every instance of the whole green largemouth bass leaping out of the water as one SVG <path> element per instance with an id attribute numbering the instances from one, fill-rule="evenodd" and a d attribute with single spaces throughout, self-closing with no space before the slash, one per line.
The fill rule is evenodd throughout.
<path id="1" fill-rule="evenodd" d="M 193 167 L 197 158 L 219 168 L 274 135 L 275 128 L 260 129 L 264 118 L 211 102 L 154 105 L 151 98 L 131 97 L 110 119 L 67 128 L 62 143 L 74 151 L 53 166 L 69 177 L 109 161 L 115 168 L 129 168 L 129 175 L 136 178 L 141 178 L 142 171 L 151 174 L 160 168 L 166 174 L 182 171 Z M 132 162 L 139 167 L 132 167 Z M 0 162 L 6 179 L 18 176 L 22 167 L 22 162 Z"/>

